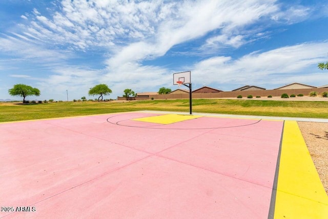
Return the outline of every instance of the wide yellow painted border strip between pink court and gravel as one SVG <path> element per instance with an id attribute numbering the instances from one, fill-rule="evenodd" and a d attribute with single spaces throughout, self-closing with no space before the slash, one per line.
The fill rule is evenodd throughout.
<path id="1" fill-rule="evenodd" d="M 285 121 L 274 218 L 328 218 L 328 196 L 296 121 Z"/>

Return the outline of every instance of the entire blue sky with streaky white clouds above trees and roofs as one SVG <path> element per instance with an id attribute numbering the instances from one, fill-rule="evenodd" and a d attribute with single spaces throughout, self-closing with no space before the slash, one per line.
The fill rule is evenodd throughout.
<path id="1" fill-rule="evenodd" d="M 0 1 L 0 98 L 23 83 L 57 101 L 107 84 L 173 86 L 191 71 L 193 88 L 274 89 L 328 84 L 328 3 L 322 1 Z"/>

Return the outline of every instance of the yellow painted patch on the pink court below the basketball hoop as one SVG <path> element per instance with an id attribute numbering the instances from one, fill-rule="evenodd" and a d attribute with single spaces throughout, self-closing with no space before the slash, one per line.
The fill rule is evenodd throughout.
<path id="1" fill-rule="evenodd" d="M 166 114 L 156 115 L 143 118 L 135 118 L 134 121 L 141 121 L 147 123 L 158 123 L 158 124 L 172 124 L 186 120 L 193 120 L 194 118 L 203 117 L 201 115 L 178 115 L 178 114 Z"/>

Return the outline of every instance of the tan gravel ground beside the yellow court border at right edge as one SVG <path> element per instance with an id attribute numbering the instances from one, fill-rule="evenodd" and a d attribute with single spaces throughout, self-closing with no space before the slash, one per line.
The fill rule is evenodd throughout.
<path id="1" fill-rule="evenodd" d="M 297 122 L 328 195 L 328 123 Z"/>

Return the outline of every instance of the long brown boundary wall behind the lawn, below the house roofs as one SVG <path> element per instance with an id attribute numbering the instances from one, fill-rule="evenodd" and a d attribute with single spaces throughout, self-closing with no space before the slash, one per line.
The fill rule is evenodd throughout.
<path id="1" fill-rule="evenodd" d="M 222 91 L 218 93 L 193 93 L 193 98 L 224 98 L 224 97 L 237 97 L 242 95 L 247 97 L 248 95 L 253 96 L 281 96 L 283 93 L 291 94 L 303 94 L 309 95 L 310 92 L 317 91 L 319 94 L 328 91 L 328 88 L 310 88 L 310 89 L 289 89 L 289 90 L 250 90 L 250 91 Z M 157 94 L 150 95 L 148 99 L 189 99 L 189 93 L 186 94 Z M 138 98 L 137 98 L 138 99 Z"/>

